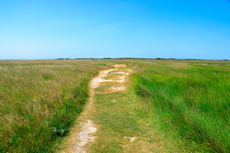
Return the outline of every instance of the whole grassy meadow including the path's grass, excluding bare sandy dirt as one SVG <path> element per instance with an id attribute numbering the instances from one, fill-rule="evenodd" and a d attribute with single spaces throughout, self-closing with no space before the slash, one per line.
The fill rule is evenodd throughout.
<path id="1" fill-rule="evenodd" d="M 116 145 L 125 135 L 164 152 L 230 152 L 230 62 L 162 59 L 0 61 L 0 152 L 55 152 L 89 99 L 90 80 L 113 64 L 132 74 L 126 92 L 95 96 L 104 132 L 92 152 L 125 152 Z"/>

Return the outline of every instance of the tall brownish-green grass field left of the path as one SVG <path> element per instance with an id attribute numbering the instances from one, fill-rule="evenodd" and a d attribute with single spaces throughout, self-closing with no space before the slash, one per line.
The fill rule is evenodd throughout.
<path id="1" fill-rule="evenodd" d="M 108 67 L 93 60 L 1 61 L 0 152 L 50 152 L 102 69 Z"/>

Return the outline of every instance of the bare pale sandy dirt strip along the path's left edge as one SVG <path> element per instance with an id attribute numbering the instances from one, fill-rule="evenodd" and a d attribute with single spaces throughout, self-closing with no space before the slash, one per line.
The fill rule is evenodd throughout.
<path id="1" fill-rule="evenodd" d="M 71 129 L 71 134 L 64 140 L 64 145 L 68 146 L 65 150 L 61 151 L 61 153 L 86 153 L 87 148 L 91 142 L 95 140 L 95 132 L 97 131 L 97 125 L 95 125 L 92 121 L 91 112 L 94 111 L 93 103 L 94 103 L 94 94 L 95 89 L 98 88 L 102 83 L 106 82 L 124 82 L 125 77 L 129 75 L 129 73 L 125 72 L 113 72 L 113 74 L 123 75 L 122 77 L 116 79 L 104 79 L 107 77 L 108 73 L 118 70 L 118 68 L 125 68 L 125 65 L 114 65 L 115 69 L 101 71 L 97 77 L 95 77 L 90 83 L 90 99 L 89 103 L 86 105 L 84 112 L 79 117 L 78 122 L 79 125 L 75 125 Z M 112 87 L 112 92 L 124 90 L 124 86 L 114 86 Z M 87 145 L 87 148 L 85 147 Z"/>

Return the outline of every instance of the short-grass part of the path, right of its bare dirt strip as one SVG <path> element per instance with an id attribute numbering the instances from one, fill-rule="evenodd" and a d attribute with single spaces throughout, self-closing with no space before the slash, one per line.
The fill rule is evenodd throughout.
<path id="1" fill-rule="evenodd" d="M 98 126 L 98 131 L 89 152 L 164 152 L 163 142 L 146 120 L 142 102 L 136 100 L 130 82 L 116 82 L 121 77 L 116 72 L 129 71 L 124 68 L 112 71 L 106 79 L 113 82 L 101 83 L 95 89 L 92 121 Z M 113 87 L 122 86 L 127 89 L 113 90 Z"/>

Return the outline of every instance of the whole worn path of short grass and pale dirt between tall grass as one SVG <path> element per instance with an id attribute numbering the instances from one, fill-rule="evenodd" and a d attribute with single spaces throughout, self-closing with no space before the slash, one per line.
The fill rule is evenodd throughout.
<path id="1" fill-rule="evenodd" d="M 143 109 L 135 94 L 126 90 L 132 71 L 125 65 L 114 67 L 91 81 L 89 102 L 61 153 L 165 152 L 147 118 L 140 117 Z"/>

